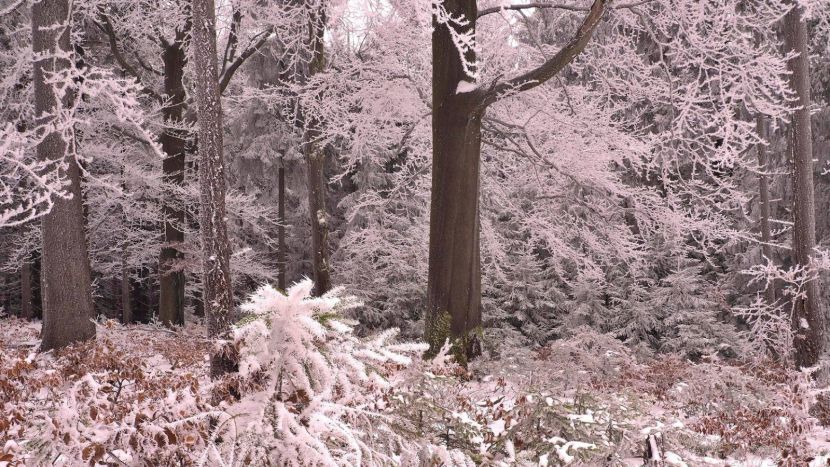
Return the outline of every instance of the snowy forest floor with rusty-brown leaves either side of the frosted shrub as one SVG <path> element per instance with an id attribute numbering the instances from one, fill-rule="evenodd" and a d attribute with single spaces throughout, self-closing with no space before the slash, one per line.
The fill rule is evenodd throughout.
<path id="1" fill-rule="evenodd" d="M 47 353 L 37 352 L 39 329 L 0 322 L 0 467 L 196 465 L 212 436 L 203 415 L 244 394 L 238 381 L 209 380 L 198 324 L 108 322 L 95 341 Z M 830 465 L 830 431 L 819 421 L 830 420 L 830 399 L 768 362 L 641 363 L 586 333 L 470 371 L 423 373 L 431 384 L 413 389 L 402 378 L 369 409 L 405 417 L 416 410 L 401 406 L 410 400 L 401 394 L 427 393 L 417 399 L 443 407 L 434 424 L 444 425 L 422 436 L 489 465 L 639 466 L 649 435 L 658 465 Z"/>

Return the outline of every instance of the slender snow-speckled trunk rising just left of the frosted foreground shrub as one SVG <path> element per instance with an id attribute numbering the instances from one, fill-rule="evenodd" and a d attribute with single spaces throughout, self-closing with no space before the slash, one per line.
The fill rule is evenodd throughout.
<path id="1" fill-rule="evenodd" d="M 199 119 L 200 229 L 204 267 L 204 304 L 208 338 L 227 338 L 230 330 L 230 242 L 225 221 L 225 172 L 222 160 L 222 101 L 216 59 L 216 18 L 213 0 L 193 0 L 196 104 Z M 234 371 L 225 349 L 214 352 L 211 377 Z"/>

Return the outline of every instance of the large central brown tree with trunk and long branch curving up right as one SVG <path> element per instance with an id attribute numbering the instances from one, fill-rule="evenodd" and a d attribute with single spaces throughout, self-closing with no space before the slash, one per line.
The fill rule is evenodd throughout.
<path id="1" fill-rule="evenodd" d="M 527 7 L 525 7 L 527 8 Z M 475 0 L 433 5 L 432 206 L 425 338 L 430 353 L 454 341 L 462 360 L 481 353 L 479 166 L 487 107 L 556 76 L 587 46 L 607 9 L 595 0 L 574 37 L 540 67 L 478 87 Z M 499 8 L 490 12 L 497 12 Z"/>

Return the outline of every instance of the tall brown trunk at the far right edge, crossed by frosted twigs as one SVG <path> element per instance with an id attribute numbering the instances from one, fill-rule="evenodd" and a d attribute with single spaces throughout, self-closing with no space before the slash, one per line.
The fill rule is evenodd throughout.
<path id="1" fill-rule="evenodd" d="M 816 246 L 816 208 L 813 188 L 813 136 L 810 121 L 809 33 L 804 9 L 794 2 L 784 18 L 786 52 L 797 54 L 789 62 L 790 87 L 796 93 L 798 109 L 793 112 L 789 132 L 793 186 L 793 263 L 810 266 Z M 824 348 L 824 315 L 819 303 L 819 280 L 805 284 L 792 316 L 795 363 L 811 367 L 818 363 Z"/>

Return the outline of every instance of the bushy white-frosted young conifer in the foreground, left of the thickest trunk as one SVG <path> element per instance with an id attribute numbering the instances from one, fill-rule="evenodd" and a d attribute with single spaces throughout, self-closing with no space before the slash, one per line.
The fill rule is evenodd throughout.
<path id="1" fill-rule="evenodd" d="M 363 340 L 341 312 L 358 305 L 338 288 L 311 297 L 306 280 L 285 294 L 260 288 L 234 329 L 241 378 L 263 378 L 217 431 L 210 465 L 401 465 L 421 447 L 393 429 L 381 395 L 389 377 L 423 352 L 393 344 L 395 330 Z M 237 427 L 240 427 L 237 429 Z M 218 439 L 214 435 L 214 439 Z"/>

